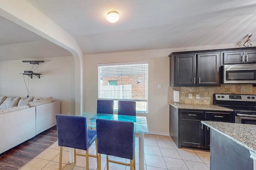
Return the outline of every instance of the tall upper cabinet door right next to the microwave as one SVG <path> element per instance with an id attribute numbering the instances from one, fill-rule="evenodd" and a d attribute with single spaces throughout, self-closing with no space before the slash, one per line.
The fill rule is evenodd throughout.
<path id="1" fill-rule="evenodd" d="M 220 53 L 197 55 L 197 85 L 220 84 Z"/>

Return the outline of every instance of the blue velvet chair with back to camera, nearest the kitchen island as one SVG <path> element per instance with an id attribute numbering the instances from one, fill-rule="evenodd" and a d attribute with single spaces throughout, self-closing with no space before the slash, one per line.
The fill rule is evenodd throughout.
<path id="1" fill-rule="evenodd" d="M 135 170 L 135 135 L 134 123 L 129 121 L 96 119 L 98 140 L 98 167 L 101 167 L 101 154 L 106 154 L 108 163 L 130 166 Z M 130 163 L 109 160 L 108 155 L 130 159 Z"/>

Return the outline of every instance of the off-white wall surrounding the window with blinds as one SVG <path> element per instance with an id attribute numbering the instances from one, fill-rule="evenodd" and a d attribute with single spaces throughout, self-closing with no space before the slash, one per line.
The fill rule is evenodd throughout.
<path id="1" fill-rule="evenodd" d="M 169 134 L 169 50 L 132 51 L 85 55 L 84 58 L 84 109 L 96 112 L 98 99 L 99 63 L 122 63 L 149 61 L 148 64 L 148 113 L 139 113 L 147 117 L 150 133 Z M 162 84 L 162 89 L 158 89 Z"/>

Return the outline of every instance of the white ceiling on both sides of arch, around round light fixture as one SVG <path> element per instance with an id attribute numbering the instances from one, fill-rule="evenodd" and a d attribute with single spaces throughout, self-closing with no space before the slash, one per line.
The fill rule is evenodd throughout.
<path id="1" fill-rule="evenodd" d="M 256 0 L 28 1 L 72 35 L 84 54 L 238 43 L 256 31 Z M 120 14 L 116 23 L 106 21 L 111 10 Z M 0 17 L 0 61 L 70 55 Z"/>

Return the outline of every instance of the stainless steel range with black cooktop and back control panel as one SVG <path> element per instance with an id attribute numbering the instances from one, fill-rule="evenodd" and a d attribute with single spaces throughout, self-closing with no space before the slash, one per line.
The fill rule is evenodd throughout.
<path id="1" fill-rule="evenodd" d="M 214 94 L 213 104 L 233 109 L 235 123 L 256 125 L 256 95 Z"/>

